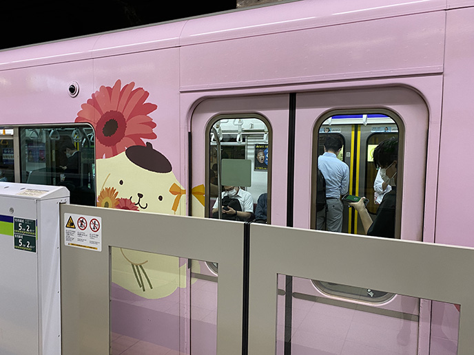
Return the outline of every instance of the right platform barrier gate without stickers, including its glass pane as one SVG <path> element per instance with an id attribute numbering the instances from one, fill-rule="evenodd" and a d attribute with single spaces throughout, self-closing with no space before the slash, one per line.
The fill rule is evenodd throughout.
<path id="1" fill-rule="evenodd" d="M 470 248 L 250 229 L 249 354 L 471 354 Z"/>

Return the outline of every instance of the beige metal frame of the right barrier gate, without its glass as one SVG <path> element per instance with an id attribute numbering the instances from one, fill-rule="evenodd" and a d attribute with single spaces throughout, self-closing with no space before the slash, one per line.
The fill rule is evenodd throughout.
<path id="1" fill-rule="evenodd" d="M 275 354 L 279 274 L 460 304 L 457 354 L 472 354 L 472 248 L 260 224 L 249 248 L 249 354 Z"/>

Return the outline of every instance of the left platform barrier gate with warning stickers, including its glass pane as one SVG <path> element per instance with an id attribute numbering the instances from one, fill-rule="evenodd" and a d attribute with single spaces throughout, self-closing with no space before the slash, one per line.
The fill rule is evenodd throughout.
<path id="1" fill-rule="evenodd" d="M 61 208 L 63 352 L 242 354 L 244 224 Z"/>

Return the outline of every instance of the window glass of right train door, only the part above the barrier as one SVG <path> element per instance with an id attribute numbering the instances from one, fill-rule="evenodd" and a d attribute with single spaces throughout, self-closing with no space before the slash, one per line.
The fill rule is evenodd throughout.
<path id="1" fill-rule="evenodd" d="M 382 177 L 378 173 L 378 167 L 373 160 L 375 147 L 387 139 L 395 139 L 398 142 L 398 126 L 393 118 L 384 114 L 345 114 L 331 116 L 322 122 L 318 129 L 318 169 L 324 175 L 323 183 L 316 181 L 313 189 L 316 189 L 316 229 L 331 230 L 335 232 L 369 234 L 378 237 L 395 237 L 395 184 L 397 180 L 398 164 L 393 166 L 380 166 L 389 168 L 389 177 L 393 177 L 390 184 L 383 184 Z M 329 145 L 327 144 L 329 142 Z M 328 145 L 328 147 L 327 147 Z M 336 154 L 337 160 L 331 160 L 331 155 Z M 393 160 L 398 160 L 398 149 L 391 153 Z M 400 157 L 401 158 L 401 157 Z M 390 162 L 391 163 L 391 162 Z M 316 165 L 316 162 L 315 162 Z M 393 171 L 392 171 L 393 170 Z M 316 173 L 316 166 L 315 166 Z M 395 175 L 393 175 L 395 174 Z M 318 174 L 315 174 L 317 176 Z M 318 177 L 318 180 L 319 177 Z M 392 189 L 393 187 L 393 189 Z M 390 191 L 392 191 L 390 193 Z M 326 195 L 326 206 L 321 201 L 320 195 Z M 358 211 L 349 205 L 344 199 L 346 193 L 356 197 L 365 197 L 366 208 L 369 212 L 369 221 L 376 219 L 376 213 L 382 203 L 384 195 L 388 195 L 384 211 L 390 204 L 391 221 L 384 226 L 376 228 L 374 224 L 369 230 L 366 226 L 368 219 L 359 217 Z M 319 195 L 319 196 L 318 196 Z M 396 202 L 400 204 L 400 202 Z M 362 208 L 365 209 L 365 208 Z M 363 213 L 363 215 L 366 215 Z M 384 215 L 384 213 L 382 213 Z M 381 220 L 381 219 L 380 219 Z M 364 222 L 366 222 L 364 224 Z"/>

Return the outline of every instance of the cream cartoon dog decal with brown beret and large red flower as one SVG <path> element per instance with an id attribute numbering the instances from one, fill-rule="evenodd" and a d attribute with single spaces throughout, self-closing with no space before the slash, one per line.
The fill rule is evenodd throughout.
<path id="1" fill-rule="evenodd" d="M 169 160 L 156 151 L 156 103 L 134 81 L 102 85 L 81 105 L 75 122 L 94 127 L 97 206 L 185 215 L 185 190 Z M 163 128 L 165 129 L 165 128 Z M 204 186 L 192 189 L 193 214 L 204 216 Z M 138 231 L 139 226 L 137 226 Z M 172 294 L 183 280 L 185 261 L 135 250 L 112 248 L 112 281 L 149 299 Z M 184 278 L 185 279 L 185 278 Z M 183 281 L 181 281 L 183 283 Z"/>

